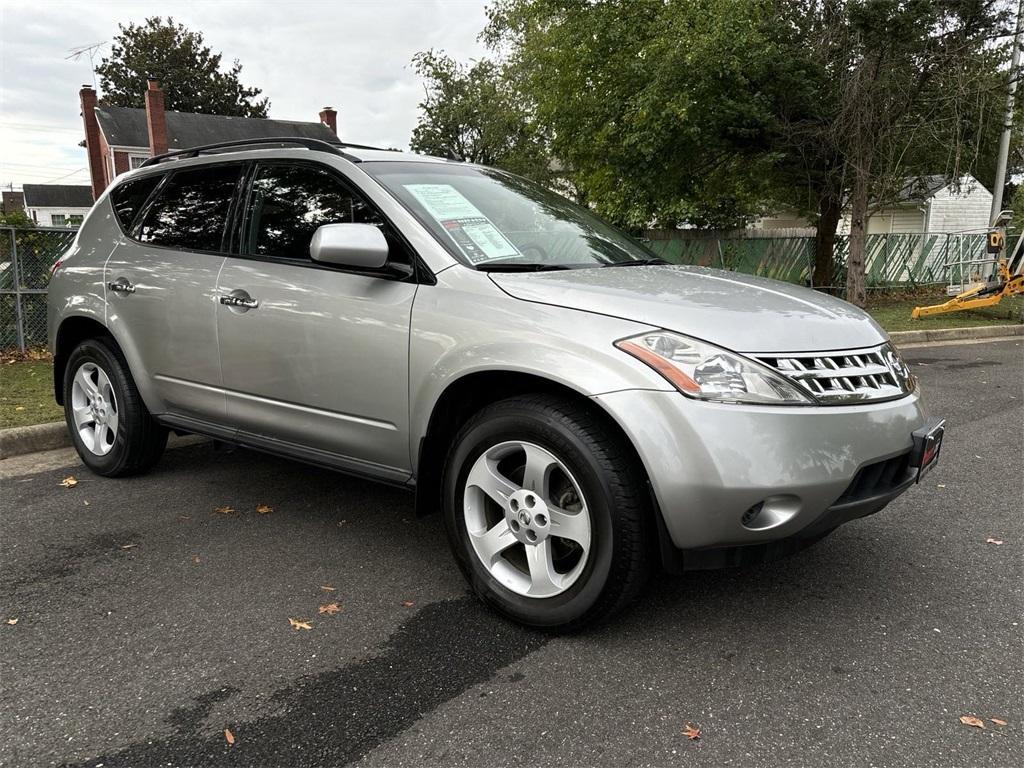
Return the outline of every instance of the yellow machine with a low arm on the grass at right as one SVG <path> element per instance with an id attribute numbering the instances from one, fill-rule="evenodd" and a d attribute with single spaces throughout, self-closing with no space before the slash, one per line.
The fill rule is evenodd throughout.
<path id="1" fill-rule="evenodd" d="M 913 319 L 927 317 L 930 314 L 958 312 L 964 309 L 977 309 L 983 306 L 995 306 L 1005 296 L 1024 294 L 1024 234 L 1017 238 L 1013 253 L 1006 255 L 1007 232 L 1006 224 L 1013 217 L 1011 211 L 1002 211 L 992 222 L 988 231 L 987 252 L 990 258 L 973 259 L 946 264 L 961 267 L 962 282 L 956 289 L 959 292 L 942 304 L 914 307 L 910 316 Z M 995 274 L 991 274 L 991 265 L 995 265 Z M 987 267 L 982 266 L 987 265 Z M 977 269 L 964 279 L 965 269 Z M 983 270 L 988 270 L 985 275 Z M 952 285 L 952 283 L 950 284 Z M 951 294 L 953 290 L 950 290 Z"/>

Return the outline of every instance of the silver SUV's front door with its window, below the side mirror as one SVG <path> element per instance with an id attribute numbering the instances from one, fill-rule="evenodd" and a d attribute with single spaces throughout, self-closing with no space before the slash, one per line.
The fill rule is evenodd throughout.
<path id="1" fill-rule="evenodd" d="M 410 473 L 409 328 L 417 286 L 309 258 L 322 224 L 370 223 L 409 260 L 381 214 L 335 170 L 253 170 L 241 255 L 218 281 L 227 417 L 240 437 L 392 479 Z"/>

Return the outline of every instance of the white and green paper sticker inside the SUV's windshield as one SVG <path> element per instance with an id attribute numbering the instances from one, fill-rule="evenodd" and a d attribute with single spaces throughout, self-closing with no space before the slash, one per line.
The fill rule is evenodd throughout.
<path id="1" fill-rule="evenodd" d="M 508 238 L 451 184 L 406 184 L 474 264 L 518 256 Z"/>

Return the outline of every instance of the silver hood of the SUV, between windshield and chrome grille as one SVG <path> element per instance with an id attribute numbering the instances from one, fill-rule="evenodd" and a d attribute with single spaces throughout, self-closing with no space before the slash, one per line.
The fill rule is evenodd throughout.
<path id="1" fill-rule="evenodd" d="M 700 266 L 490 272 L 523 301 L 657 326 L 738 352 L 807 352 L 881 344 L 864 311 L 787 283 Z"/>

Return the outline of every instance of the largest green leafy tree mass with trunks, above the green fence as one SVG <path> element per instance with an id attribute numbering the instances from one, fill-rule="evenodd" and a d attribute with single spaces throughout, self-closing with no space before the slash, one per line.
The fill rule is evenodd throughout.
<path id="1" fill-rule="evenodd" d="M 849 205 L 862 304 L 868 206 L 981 162 L 1005 2 L 497 0 L 484 37 L 602 213 L 726 226 L 790 206 L 817 226 L 827 286 Z"/>

